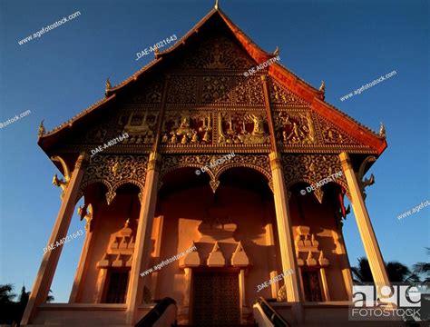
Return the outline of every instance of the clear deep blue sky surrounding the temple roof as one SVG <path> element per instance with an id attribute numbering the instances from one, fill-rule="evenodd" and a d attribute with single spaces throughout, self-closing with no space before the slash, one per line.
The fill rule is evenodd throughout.
<path id="1" fill-rule="evenodd" d="M 42 119 L 51 130 L 103 98 L 148 64 L 136 53 L 166 36 L 184 35 L 213 1 L 0 0 L 0 283 L 31 289 L 60 207 L 57 171 L 36 144 Z M 360 123 L 386 125 L 388 148 L 371 169 L 367 208 L 386 261 L 428 261 L 430 206 L 429 24 L 426 1 L 222 1 L 220 7 L 280 62 Z M 80 11 L 74 20 L 27 44 L 18 41 Z M 341 102 L 339 98 L 396 70 L 392 78 Z M 83 229 L 77 216 L 69 232 Z M 353 214 L 345 223 L 352 264 L 364 254 Z M 65 302 L 83 236 L 64 246 L 52 289 Z"/>

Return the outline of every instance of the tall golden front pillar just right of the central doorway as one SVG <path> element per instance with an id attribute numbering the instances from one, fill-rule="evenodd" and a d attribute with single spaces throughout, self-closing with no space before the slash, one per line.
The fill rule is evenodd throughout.
<path id="1" fill-rule="evenodd" d="M 278 224 L 279 249 L 282 261 L 282 270 L 291 269 L 294 273 L 284 278 L 288 302 L 293 302 L 293 310 L 298 322 L 302 320 L 302 308 L 299 305 L 302 294 L 299 287 L 298 263 L 292 233 L 291 216 L 288 209 L 288 191 L 282 171 L 281 156 L 279 153 L 269 154 L 270 168 L 273 178 L 273 193 L 275 211 Z M 296 305 L 294 304 L 296 302 Z"/>

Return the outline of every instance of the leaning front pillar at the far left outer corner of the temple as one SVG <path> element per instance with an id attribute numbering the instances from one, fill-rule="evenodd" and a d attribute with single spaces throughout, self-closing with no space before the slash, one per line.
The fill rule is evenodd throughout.
<path id="1" fill-rule="evenodd" d="M 56 243 L 67 236 L 70 222 L 72 221 L 76 196 L 79 192 L 88 159 L 88 154 L 80 154 L 74 164 L 73 173 L 64 190 L 63 201 L 48 244 Z M 37 307 L 46 301 L 62 250 L 63 246 L 58 246 L 54 250 L 44 253 L 44 258 L 40 265 L 39 272 L 37 272 L 21 325 L 24 326 L 31 322 L 37 311 Z"/>

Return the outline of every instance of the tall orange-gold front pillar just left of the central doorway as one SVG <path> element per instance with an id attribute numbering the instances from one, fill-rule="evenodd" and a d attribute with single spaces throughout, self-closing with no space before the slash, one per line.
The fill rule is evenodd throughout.
<path id="1" fill-rule="evenodd" d="M 132 325 L 142 302 L 144 278 L 140 273 L 146 269 L 151 253 L 151 233 L 157 201 L 158 181 L 160 173 L 161 155 L 155 152 L 150 154 L 146 172 L 145 187 L 142 194 L 141 212 L 136 233 L 136 243 L 132 258 L 132 270 L 127 290 L 126 324 Z M 142 279 L 143 282 L 140 280 Z"/>

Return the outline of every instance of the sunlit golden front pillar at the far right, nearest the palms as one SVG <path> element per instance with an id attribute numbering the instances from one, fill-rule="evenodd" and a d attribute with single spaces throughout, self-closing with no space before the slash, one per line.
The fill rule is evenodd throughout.
<path id="1" fill-rule="evenodd" d="M 342 170 L 347 178 L 347 185 L 349 192 L 351 193 L 351 204 L 356 216 L 358 231 L 363 242 L 370 270 L 377 288 L 377 295 L 381 297 L 379 293 L 382 286 L 391 287 L 391 283 L 388 280 L 386 273 L 386 266 L 382 258 L 381 250 L 376 241 L 375 231 L 373 230 L 370 217 L 367 213 L 366 204 L 363 199 L 363 194 L 359 187 L 356 173 L 352 167 L 352 163 L 346 152 L 339 154 L 340 163 Z"/>

